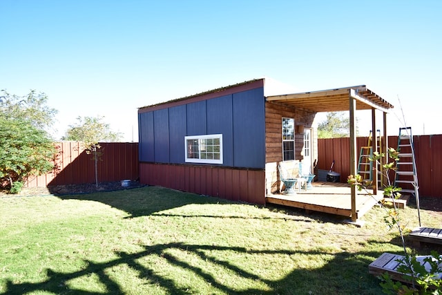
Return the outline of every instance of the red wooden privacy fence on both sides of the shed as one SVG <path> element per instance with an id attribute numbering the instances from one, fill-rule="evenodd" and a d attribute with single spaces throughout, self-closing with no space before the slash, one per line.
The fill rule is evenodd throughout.
<path id="1" fill-rule="evenodd" d="M 367 145 L 367 137 L 358 137 L 358 153 Z M 397 136 L 388 137 L 388 146 L 396 149 Z M 442 197 L 442 135 L 414 135 L 416 169 L 421 196 Z M 104 143 L 102 160 L 98 163 L 99 182 L 136 180 L 139 178 L 138 143 Z M 46 187 L 59 184 L 95 182 L 92 155 L 86 154 L 78 142 L 61 142 L 55 164 L 55 173 L 28 180 L 28 187 Z M 358 157 L 358 155 L 356 155 Z M 349 175 L 349 138 L 318 140 L 318 169 L 329 170 L 335 160 L 334 171 L 340 173 L 341 182 Z"/>

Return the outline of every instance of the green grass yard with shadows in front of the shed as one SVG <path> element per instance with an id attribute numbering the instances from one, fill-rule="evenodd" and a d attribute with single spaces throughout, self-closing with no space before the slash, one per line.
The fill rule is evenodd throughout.
<path id="1" fill-rule="evenodd" d="M 401 213 L 419 225 L 416 209 Z M 381 294 L 368 265 L 402 249 L 383 216 L 374 208 L 358 228 L 160 187 L 8 196 L 0 294 Z M 432 211 L 421 220 L 442 225 Z"/>

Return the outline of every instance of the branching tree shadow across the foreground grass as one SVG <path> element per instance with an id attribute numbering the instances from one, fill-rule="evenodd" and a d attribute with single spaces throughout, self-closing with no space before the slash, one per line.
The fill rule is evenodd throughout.
<path id="1" fill-rule="evenodd" d="M 171 251 L 172 250 L 172 251 Z M 184 258 L 176 255 L 176 251 L 186 251 L 200 260 L 201 263 L 195 266 Z M 25 294 L 30 292 L 52 292 L 55 294 L 124 294 L 124 289 L 109 275 L 108 269 L 118 265 L 127 265 L 136 273 L 137 278 L 144 280 L 144 284 L 152 284 L 155 287 L 160 286 L 166 294 L 200 294 L 201 290 L 195 289 L 194 285 L 178 284 L 171 276 L 160 275 L 155 265 L 142 265 L 140 258 L 155 256 L 164 263 L 169 263 L 173 267 L 184 269 L 198 276 L 207 285 L 217 290 L 217 293 L 223 294 L 378 294 L 381 289 L 378 280 L 374 276 L 367 274 L 367 266 L 377 258 L 380 253 L 358 253 L 349 254 L 346 252 L 330 254 L 333 256 L 322 267 L 316 269 L 294 269 L 287 276 L 279 280 L 271 280 L 262 276 L 262 272 L 256 273 L 244 269 L 240 265 L 235 265 L 229 260 L 217 258 L 210 251 L 229 251 L 253 258 L 255 255 L 287 255 L 292 259 L 302 257 L 314 259 L 316 255 L 327 253 L 319 251 L 287 251 L 283 249 L 276 250 L 253 250 L 243 247 L 222 247 L 216 245 L 189 245 L 185 243 L 169 243 L 165 245 L 144 246 L 144 250 L 128 254 L 125 252 L 115 252 L 119 257 L 104 263 L 94 263 L 86 260 L 86 266 L 76 272 L 54 272 L 46 269 L 47 278 L 38 283 L 14 283 L 6 281 L 6 290 L 2 294 Z M 171 254 L 175 253 L 175 254 Z M 224 256 L 226 257 L 226 256 Z M 371 259 L 372 258 L 372 259 Z M 205 268 L 204 266 L 207 265 Z M 229 273 L 229 276 L 235 276 L 238 279 L 249 279 L 253 282 L 265 285 L 265 289 L 250 287 L 249 289 L 236 289 L 234 283 L 227 285 L 224 280 L 213 275 L 213 265 L 218 265 Z M 212 269 L 212 271 L 210 270 Z M 261 273 L 261 275 L 260 275 Z M 99 282 L 106 286 L 105 292 L 87 291 L 84 289 L 75 289 L 70 287 L 68 280 L 81 278 L 96 274 Z M 252 285 L 257 285 L 253 283 Z M 233 286 L 232 286 L 233 285 Z"/>

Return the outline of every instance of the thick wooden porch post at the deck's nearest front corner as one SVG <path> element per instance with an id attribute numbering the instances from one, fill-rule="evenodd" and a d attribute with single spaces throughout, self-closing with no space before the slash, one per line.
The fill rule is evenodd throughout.
<path id="1" fill-rule="evenodd" d="M 356 175 L 356 120 L 354 119 L 356 113 L 356 99 L 354 99 L 354 90 L 349 91 L 349 123 L 350 123 L 350 175 Z M 356 222 L 356 187 L 350 187 L 352 193 L 352 222 Z"/>

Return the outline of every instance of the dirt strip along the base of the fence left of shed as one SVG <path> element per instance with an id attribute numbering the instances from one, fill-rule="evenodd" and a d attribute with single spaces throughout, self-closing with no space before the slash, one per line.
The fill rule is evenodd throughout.
<path id="1" fill-rule="evenodd" d="M 98 186 L 95 183 L 86 184 L 67 184 L 56 185 L 49 187 L 30 187 L 24 188 L 17 194 L 8 194 L 5 191 L 0 191 L 0 197 L 15 196 L 15 197 L 29 197 L 29 196 L 46 196 L 46 195 L 73 195 L 80 193 L 98 193 L 103 191 L 119 191 L 123 189 L 135 189 L 137 187 L 144 187 L 144 184 L 140 184 L 137 181 L 131 181 L 127 186 L 123 186 L 122 182 L 102 182 Z"/>

